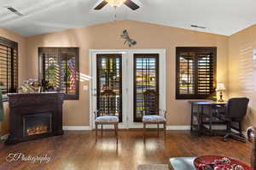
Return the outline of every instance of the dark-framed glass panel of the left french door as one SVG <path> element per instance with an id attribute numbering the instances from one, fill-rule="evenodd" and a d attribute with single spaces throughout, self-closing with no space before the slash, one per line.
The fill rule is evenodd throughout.
<path id="1" fill-rule="evenodd" d="M 96 108 L 122 122 L 122 54 L 96 55 Z"/>

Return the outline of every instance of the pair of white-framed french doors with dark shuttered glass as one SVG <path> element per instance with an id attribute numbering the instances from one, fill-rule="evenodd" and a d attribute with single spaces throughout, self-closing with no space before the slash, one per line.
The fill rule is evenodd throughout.
<path id="1" fill-rule="evenodd" d="M 90 126 L 94 111 L 119 116 L 119 127 L 166 109 L 165 50 L 90 50 Z"/>

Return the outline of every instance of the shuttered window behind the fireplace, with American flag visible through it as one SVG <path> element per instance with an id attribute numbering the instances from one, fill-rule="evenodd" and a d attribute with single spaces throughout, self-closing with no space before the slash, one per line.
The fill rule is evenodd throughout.
<path id="1" fill-rule="evenodd" d="M 79 99 L 79 48 L 38 48 L 39 79 L 65 93 L 65 99 Z"/>

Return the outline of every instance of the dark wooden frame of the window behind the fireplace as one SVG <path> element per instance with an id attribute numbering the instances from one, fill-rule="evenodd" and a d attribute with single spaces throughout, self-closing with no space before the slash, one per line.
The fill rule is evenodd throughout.
<path id="1" fill-rule="evenodd" d="M 75 68 L 76 68 L 76 87 L 75 94 L 66 94 L 64 95 L 65 100 L 79 100 L 79 47 L 39 47 L 38 48 L 38 80 L 43 79 L 43 62 L 42 62 L 42 54 L 45 53 L 48 49 L 54 49 L 58 51 L 57 58 L 60 59 L 60 51 L 61 48 L 73 48 L 75 50 Z"/>

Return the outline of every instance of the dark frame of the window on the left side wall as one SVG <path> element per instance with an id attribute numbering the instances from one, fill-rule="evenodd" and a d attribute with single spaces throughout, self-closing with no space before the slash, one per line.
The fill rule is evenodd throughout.
<path id="1" fill-rule="evenodd" d="M 0 37 L 0 45 L 5 46 L 7 48 L 11 48 L 11 87 L 14 88 L 15 90 L 9 92 L 7 91 L 6 94 L 9 93 L 17 93 L 18 92 L 18 87 L 19 87 L 19 51 L 18 51 L 18 42 L 9 40 L 8 38 L 5 37 Z M 14 51 L 16 51 L 16 67 L 15 67 L 15 60 L 14 60 Z M 15 75 L 15 70 L 16 70 L 16 75 Z M 8 81 L 8 79 L 7 79 Z M 15 84 L 16 82 L 16 84 Z M 4 96 L 6 94 L 3 94 Z M 4 97 L 5 98 L 5 97 Z"/>

